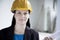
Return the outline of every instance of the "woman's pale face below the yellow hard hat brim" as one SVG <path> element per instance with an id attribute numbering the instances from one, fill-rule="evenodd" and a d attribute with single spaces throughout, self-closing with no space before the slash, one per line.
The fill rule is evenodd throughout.
<path id="1" fill-rule="evenodd" d="M 16 10 L 14 17 L 16 19 L 16 23 L 26 24 L 26 22 L 29 18 L 29 11 L 27 11 L 27 10 Z"/>

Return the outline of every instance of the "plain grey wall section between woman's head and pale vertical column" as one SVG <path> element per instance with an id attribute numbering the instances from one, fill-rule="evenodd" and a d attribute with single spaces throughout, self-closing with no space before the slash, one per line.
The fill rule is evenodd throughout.
<path id="1" fill-rule="evenodd" d="M 44 11 L 42 9 L 44 5 L 44 0 L 29 0 L 29 1 L 31 2 L 33 8 L 33 12 L 31 14 L 31 26 L 33 29 L 40 31 L 40 29 L 42 29 L 42 26 L 44 26 L 43 24 Z"/>

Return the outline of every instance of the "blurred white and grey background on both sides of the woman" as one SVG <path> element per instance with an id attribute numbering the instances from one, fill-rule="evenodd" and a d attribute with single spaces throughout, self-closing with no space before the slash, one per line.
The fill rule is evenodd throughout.
<path id="1" fill-rule="evenodd" d="M 11 25 L 13 14 L 10 11 L 14 0 L 0 0 L 0 30 Z M 39 39 L 60 36 L 60 0 L 29 0 L 33 12 L 30 15 L 31 28 L 39 33 Z M 58 35 L 57 35 L 58 34 Z"/>

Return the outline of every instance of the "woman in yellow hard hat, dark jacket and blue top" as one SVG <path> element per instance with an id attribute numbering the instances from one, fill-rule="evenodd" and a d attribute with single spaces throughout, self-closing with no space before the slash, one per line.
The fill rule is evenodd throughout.
<path id="1" fill-rule="evenodd" d="M 39 40 L 39 35 L 30 29 L 29 15 L 32 11 L 28 0 L 15 0 L 11 8 L 12 25 L 0 30 L 0 40 Z"/>

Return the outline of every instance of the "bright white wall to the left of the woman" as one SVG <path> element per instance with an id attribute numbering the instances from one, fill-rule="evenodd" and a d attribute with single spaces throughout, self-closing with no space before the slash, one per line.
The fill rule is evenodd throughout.
<path id="1" fill-rule="evenodd" d="M 12 13 L 10 12 L 13 0 L 0 0 L 0 29 L 11 25 Z"/>

